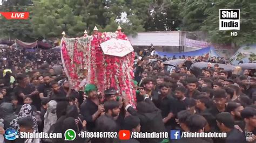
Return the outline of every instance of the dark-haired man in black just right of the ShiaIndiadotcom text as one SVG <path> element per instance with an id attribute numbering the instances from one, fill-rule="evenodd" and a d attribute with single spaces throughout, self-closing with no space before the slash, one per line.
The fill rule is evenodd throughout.
<path id="1" fill-rule="evenodd" d="M 227 133 L 226 143 L 246 143 L 245 134 L 234 128 L 234 119 L 230 113 L 219 113 L 216 121 L 220 131 Z"/>

